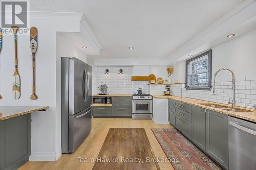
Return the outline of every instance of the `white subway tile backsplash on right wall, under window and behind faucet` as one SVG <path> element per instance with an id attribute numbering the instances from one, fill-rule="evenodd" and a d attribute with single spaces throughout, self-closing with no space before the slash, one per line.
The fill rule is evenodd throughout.
<path id="1" fill-rule="evenodd" d="M 185 88 L 181 90 L 181 87 L 184 87 L 184 85 L 176 85 L 175 88 L 172 87 L 172 91 L 173 95 L 178 94 L 178 96 L 182 95 L 182 97 L 186 98 L 227 104 L 229 98 L 232 98 L 231 81 L 231 78 L 216 79 L 216 95 L 212 95 L 212 91 L 186 90 Z M 236 102 L 237 106 L 241 107 L 256 104 L 256 76 L 243 76 L 236 78 Z"/>

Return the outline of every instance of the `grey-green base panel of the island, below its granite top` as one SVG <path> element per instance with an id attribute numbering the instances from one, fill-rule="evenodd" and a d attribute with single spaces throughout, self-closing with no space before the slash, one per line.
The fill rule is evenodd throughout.
<path id="1" fill-rule="evenodd" d="M 31 154 L 31 114 L 0 121 L 0 170 L 17 169 Z"/>

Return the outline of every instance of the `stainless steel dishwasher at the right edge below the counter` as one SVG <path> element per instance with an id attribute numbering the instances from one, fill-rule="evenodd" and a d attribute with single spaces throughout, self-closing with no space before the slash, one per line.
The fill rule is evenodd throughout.
<path id="1" fill-rule="evenodd" d="M 228 119 L 228 169 L 256 169 L 256 124 L 230 116 Z"/>

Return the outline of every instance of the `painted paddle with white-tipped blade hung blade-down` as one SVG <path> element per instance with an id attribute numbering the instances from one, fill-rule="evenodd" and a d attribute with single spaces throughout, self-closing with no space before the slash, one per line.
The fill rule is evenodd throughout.
<path id="1" fill-rule="evenodd" d="M 18 27 L 17 26 L 12 26 L 12 30 L 14 33 L 14 48 L 15 48 L 15 53 L 14 53 L 14 74 L 13 74 L 13 85 L 12 85 L 12 96 L 14 99 L 19 99 L 20 98 L 20 77 L 18 74 L 18 56 L 17 56 L 17 31 Z"/>

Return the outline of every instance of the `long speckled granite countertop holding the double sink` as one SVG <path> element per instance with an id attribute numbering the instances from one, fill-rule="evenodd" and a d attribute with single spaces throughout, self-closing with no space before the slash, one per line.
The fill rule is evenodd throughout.
<path id="1" fill-rule="evenodd" d="M 198 107 L 201 107 L 204 109 L 220 112 L 223 114 L 228 114 L 233 117 L 242 118 L 242 119 L 249 120 L 251 122 L 256 123 L 256 111 L 254 111 L 253 109 L 236 106 L 234 108 L 246 109 L 246 110 L 250 110 L 250 112 L 233 112 L 233 111 L 222 110 L 222 109 L 218 109 L 218 108 L 214 108 L 214 107 L 210 107 L 210 106 L 200 105 L 200 103 L 206 104 L 206 103 L 215 103 L 215 102 L 207 102 L 207 101 L 201 101 L 201 100 L 191 99 L 191 98 L 181 98 L 181 97 L 172 96 L 172 95 L 153 95 L 153 97 L 156 99 L 174 99 L 174 100 L 181 101 L 181 102 L 184 102 L 184 103 L 187 103 L 190 105 L 198 106 Z M 220 103 L 216 103 L 216 104 L 220 105 Z M 225 104 L 221 104 L 221 105 L 225 105 Z M 230 107 L 230 105 L 225 105 L 225 106 Z"/>

